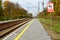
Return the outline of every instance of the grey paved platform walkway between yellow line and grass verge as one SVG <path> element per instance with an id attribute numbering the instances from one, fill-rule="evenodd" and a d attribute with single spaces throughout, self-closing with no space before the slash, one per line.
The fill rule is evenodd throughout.
<path id="1" fill-rule="evenodd" d="M 51 40 L 50 36 L 39 22 L 38 19 L 33 19 L 33 23 L 26 30 L 19 40 Z"/>

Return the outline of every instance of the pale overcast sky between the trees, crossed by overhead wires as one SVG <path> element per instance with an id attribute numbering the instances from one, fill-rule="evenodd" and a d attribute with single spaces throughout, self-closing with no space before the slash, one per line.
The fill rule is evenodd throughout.
<path id="1" fill-rule="evenodd" d="M 40 3 L 40 12 L 43 10 L 42 1 L 43 0 L 10 0 L 14 3 L 19 3 L 20 6 L 28 10 L 29 13 L 32 13 L 33 16 L 38 14 L 38 2 Z M 44 0 L 44 6 L 47 6 L 49 0 Z"/>

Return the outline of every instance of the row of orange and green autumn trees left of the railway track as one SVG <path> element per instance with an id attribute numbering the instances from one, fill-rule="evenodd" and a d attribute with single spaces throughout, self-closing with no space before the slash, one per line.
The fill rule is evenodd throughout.
<path id="1" fill-rule="evenodd" d="M 22 8 L 18 3 L 0 0 L 0 20 L 12 20 L 19 18 L 31 18 L 32 14 Z"/>

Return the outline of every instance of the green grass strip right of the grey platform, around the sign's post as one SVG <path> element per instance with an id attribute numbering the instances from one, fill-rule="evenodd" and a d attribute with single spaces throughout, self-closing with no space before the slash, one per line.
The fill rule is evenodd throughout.
<path id="1" fill-rule="evenodd" d="M 52 27 L 50 27 L 50 19 L 49 18 L 39 18 L 40 22 L 47 25 L 48 28 L 52 28 L 57 34 L 60 34 L 60 19 L 52 18 Z"/>

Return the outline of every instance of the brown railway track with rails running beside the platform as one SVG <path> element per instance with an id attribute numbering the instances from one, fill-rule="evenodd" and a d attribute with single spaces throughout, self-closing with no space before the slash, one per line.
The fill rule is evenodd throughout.
<path id="1" fill-rule="evenodd" d="M 16 30 L 20 26 L 24 25 L 31 19 L 21 19 L 17 21 L 11 21 L 11 22 L 5 22 L 5 23 L 0 23 L 0 38 L 8 35 L 12 31 Z"/>

